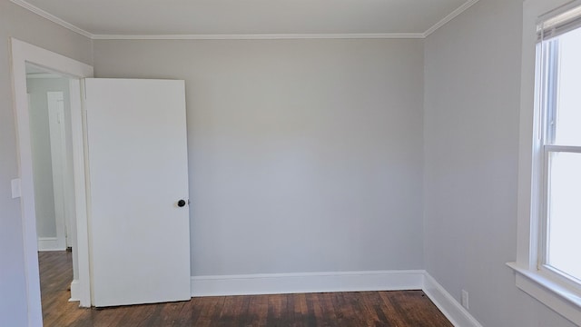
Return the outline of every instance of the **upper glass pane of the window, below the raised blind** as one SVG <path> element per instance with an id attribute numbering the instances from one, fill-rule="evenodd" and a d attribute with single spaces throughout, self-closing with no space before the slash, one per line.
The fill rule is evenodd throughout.
<path id="1" fill-rule="evenodd" d="M 555 143 L 581 145 L 581 28 L 558 37 Z"/>

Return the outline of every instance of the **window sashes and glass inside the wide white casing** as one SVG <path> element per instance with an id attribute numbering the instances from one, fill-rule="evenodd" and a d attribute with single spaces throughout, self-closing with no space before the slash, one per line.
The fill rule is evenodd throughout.
<path id="1" fill-rule="evenodd" d="M 578 8 L 566 12 L 571 15 Z M 581 283 L 581 24 L 539 25 L 537 105 L 543 167 L 539 269 Z M 574 15 L 573 20 L 576 15 Z M 559 26 L 567 26 L 561 28 Z M 547 38 L 545 33 L 549 35 Z"/>

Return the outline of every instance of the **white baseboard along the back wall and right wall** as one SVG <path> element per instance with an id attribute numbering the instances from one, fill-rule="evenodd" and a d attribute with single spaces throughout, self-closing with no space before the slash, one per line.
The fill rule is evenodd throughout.
<path id="1" fill-rule="evenodd" d="M 305 272 L 193 276 L 192 297 L 423 290 L 456 327 L 482 327 L 428 272 Z"/>

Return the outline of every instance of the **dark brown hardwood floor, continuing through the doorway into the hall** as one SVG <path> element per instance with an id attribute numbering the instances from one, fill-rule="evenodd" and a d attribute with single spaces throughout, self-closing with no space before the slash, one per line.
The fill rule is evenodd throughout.
<path id="1" fill-rule="evenodd" d="M 44 326 L 452 326 L 421 291 L 217 296 L 84 309 L 68 302 L 72 256 L 39 253 Z"/>

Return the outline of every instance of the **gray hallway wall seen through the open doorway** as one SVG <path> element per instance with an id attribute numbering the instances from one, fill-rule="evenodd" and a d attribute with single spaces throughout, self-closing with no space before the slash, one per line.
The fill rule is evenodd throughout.
<path id="1" fill-rule="evenodd" d="M 30 96 L 30 130 L 33 151 L 34 206 L 36 211 L 36 234 L 38 237 L 56 237 L 54 213 L 53 164 L 48 123 L 47 92 L 64 93 L 65 139 L 67 166 L 73 167 L 71 147 L 71 117 L 69 80 L 66 78 L 28 78 L 27 91 Z M 72 174 L 72 171 L 68 173 Z M 68 181 L 68 180 L 67 180 Z M 68 181 L 70 182 L 70 181 Z M 74 187 L 74 185 L 68 185 Z M 67 197 L 68 198 L 68 197 Z"/>

